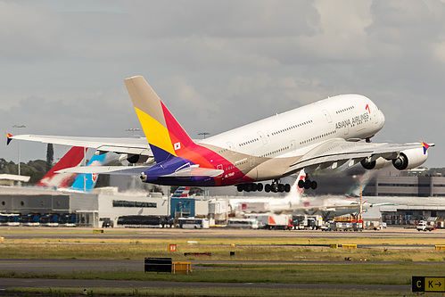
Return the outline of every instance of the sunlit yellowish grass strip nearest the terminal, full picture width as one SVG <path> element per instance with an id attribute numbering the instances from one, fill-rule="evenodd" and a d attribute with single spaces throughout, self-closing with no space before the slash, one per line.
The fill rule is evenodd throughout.
<path id="1" fill-rule="evenodd" d="M 309 239 L 199 239 L 197 244 L 189 244 L 186 239 L 94 239 L 72 238 L 58 240 L 40 238 L 37 240 L 12 240 L 0 244 L 2 259 L 127 259 L 136 260 L 144 257 L 172 257 L 176 260 L 193 260 L 185 257 L 184 252 L 211 252 L 212 260 L 326 260 L 338 261 L 345 257 L 353 260 L 367 259 L 368 261 L 443 261 L 444 251 L 436 251 L 434 244 L 437 239 L 409 239 L 409 238 L 377 238 L 374 244 L 381 244 L 379 248 L 333 249 L 319 247 L 315 244 L 371 244 L 369 238 L 339 238 L 311 239 L 312 246 L 282 245 L 308 244 Z M 266 243 L 265 243 L 266 242 Z M 407 245 L 409 243 L 424 245 L 424 248 L 401 249 L 392 245 Z M 176 243 L 177 252 L 168 252 L 168 244 Z M 427 247 L 426 247 L 427 246 Z M 230 252 L 235 252 L 235 257 Z"/>

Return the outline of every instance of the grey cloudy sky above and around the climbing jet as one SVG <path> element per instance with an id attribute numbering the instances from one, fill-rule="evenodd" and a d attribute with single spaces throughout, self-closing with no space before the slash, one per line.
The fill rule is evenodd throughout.
<path id="1" fill-rule="evenodd" d="M 140 74 L 195 138 L 366 95 L 386 116 L 375 142 L 435 143 L 425 165 L 445 167 L 444 1 L 0 1 L 0 45 L 12 134 L 130 136 L 123 79 Z M 45 151 L 22 142 L 21 161 Z"/>

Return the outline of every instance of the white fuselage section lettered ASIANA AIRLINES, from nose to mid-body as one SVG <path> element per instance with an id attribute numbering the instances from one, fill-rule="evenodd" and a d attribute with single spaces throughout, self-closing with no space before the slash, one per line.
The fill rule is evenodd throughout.
<path id="1" fill-rule="evenodd" d="M 366 110 L 366 106 L 368 109 Z M 383 128 L 384 116 L 363 95 L 337 95 L 202 140 L 256 157 L 285 157 L 330 138 L 367 138 Z"/>

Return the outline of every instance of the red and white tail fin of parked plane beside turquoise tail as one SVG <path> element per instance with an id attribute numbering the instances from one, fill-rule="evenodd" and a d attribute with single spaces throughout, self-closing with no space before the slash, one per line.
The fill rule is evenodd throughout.
<path id="1" fill-rule="evenodd" d="M 78 166 L 84 159 L 84 154 L 85 152 L 83 147 L 71 147 L 70 151 L 65 153 L 62 159 L 45 174 L 45 177 L 40 179 L 36 186 L 68 187 L 70 185 L 70 181 L 77 175 L 77 173 L 56 173 L 56 171 Z"/>

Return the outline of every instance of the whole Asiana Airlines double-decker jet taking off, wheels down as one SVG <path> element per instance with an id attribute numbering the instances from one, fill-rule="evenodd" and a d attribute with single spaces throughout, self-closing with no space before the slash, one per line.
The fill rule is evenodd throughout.
<path id="1" fill-rule="evenodd" d="M 384 125 L 383 112 L 364 95 L 335 95 L 276 114 L 217 136 L 194 141 L 142 76 L 124 79 L 146 138 L 127 145 L 122 140 L 88 138 L 81 145 L 98 153 L 129 153 L 151 166 L 64 169 L 62 172 L 140 175 L 143 182 L 164 186 L 236 186 L 238 191 L 289 192 L 283 177 L 305 169 L 299 181 L 316 189 L 309 178 L 316 169 L 358 163 L 365 169 L 413 169 L 426 161 L 434 144 L 371 143 Z M 12 136 L 44 143 L 82 143 L 81 137 Z M 107 143 L 107 139 L 110 141 Z M 365 140 L 365 141 L 363 141 Z M 261 182 L 271 180 L 263 186 Z"/>

